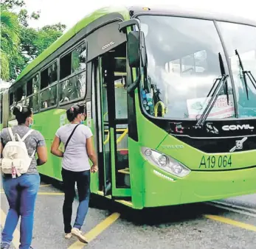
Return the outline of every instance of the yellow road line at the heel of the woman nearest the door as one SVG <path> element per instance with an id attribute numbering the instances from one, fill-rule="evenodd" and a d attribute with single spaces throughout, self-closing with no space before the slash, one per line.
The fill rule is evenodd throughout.
<path id="1" fill-rule="evenodd" d="M 113 224 L 118 218 L 120 217 L 120 214 L 114 213 L 111 214 L 109 217 L 107 217 L 103 222 L 100 222 L 100 224 L 96 225 L 95 228 L 91 229 L 89 233 L 85 234 L 84 236 L 90 242 L 92 239 L 96 238 L 100 233 L 102 233 L 108 226 Z M 83 244 L 80 241 L 75 242 L 73 245 L 71 245 L 68 249 L 82 249 L 86 244 Z"/>

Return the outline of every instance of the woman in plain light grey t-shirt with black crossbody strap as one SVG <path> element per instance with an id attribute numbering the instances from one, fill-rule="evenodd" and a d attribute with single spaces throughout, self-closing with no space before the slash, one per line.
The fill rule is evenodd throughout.
<path id="1" fill-rule="evenodd" d="M 86 118 L 86 108 L 83 105 L 75 105 L 66 111 L 69 124 L 60 127 L 52 143 L 51 152 L 63 158 L 62 179 L 65 199 L 63 203 L 63 222 L 65 238 L 76 236 L 80 242 L 88 243 L 80 229 L 86 219 L 89 208 L 90 195 L 90 169 L 97 172 L 97 156 L 94 152 L 91 129 L 82 125 Z M 65 152 L 59 150 L 60 142 L 65 146 Z M 90 167 L 89 159 L 92 162 Z M 72 204 L 75 199 L 75 183 L 79 197 L 77 217 L 72 228 Z"/>

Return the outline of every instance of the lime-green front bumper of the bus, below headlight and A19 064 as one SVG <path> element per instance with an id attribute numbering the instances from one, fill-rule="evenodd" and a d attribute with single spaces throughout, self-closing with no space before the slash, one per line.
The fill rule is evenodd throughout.
<path id="1" fill-rule="evenodd" d="M 256 193 L 256 166 L 250 169 L 190 172 L 176 178 L 145 163 L 144 206 L 171 206 Z"/>

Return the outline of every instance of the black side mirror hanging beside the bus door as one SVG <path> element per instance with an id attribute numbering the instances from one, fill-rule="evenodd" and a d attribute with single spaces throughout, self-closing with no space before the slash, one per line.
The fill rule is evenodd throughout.
<path id="1" fill-rule="evenodd" d="M 131 68 L 146 66 L 145 36 L 142 31 L 128 33 L 128 62 Z"/>

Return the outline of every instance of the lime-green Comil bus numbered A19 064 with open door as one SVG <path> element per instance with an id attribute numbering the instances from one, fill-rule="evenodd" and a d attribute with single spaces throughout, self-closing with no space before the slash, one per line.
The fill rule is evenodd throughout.
<path id="1" fill-rule="evenodd" d="M 136 209 L 256 192 L 256 24 L 187 10 L 106 7 L 63 34 L 4 92 L 34 111 L 50 150 L 86 105 L 91 192 Z M 49 152 L 42 175 L 61 181 Z"/>

